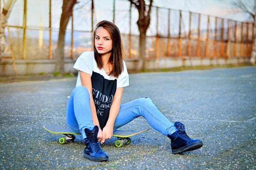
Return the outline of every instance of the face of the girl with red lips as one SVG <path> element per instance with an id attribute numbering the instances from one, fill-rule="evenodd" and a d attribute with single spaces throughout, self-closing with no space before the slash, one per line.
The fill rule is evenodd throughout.
<path id="1" fill-rule="evenodd" d="M 102 26 L 100 26 L 99 28 L 96 29 L 94 45 L 99 54 L 106 54 L 108 52 L 111 52 L 111 50 L 113 48 L 113 42 L 112 42 L 111 35 Z"/>

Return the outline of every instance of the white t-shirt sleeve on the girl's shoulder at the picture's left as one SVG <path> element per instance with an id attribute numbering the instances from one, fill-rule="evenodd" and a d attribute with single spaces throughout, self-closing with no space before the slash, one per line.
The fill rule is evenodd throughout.
<path id="1" fill-rule="evenodd" d="M 84 52 L 79 56 L 79 58 L 76 60 L 76 63 L 74 65 L 74 69 L 80 70 L 82 72 L 86 72 L 90 75 L 92 75 L 93 72 L 93 66 L 91 63 L 91 56 L 89 52 Z"/>

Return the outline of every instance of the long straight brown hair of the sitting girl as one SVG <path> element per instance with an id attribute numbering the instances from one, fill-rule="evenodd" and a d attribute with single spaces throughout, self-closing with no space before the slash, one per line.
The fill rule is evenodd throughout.
<path id="1" fill-rule="evenodd" d="M 121 34 L 120 34 L 117 26 L 109 21 L 103 20 L 96 25 L 95 30 L 93 32 L 93 51 L 94 51 L 94 58 L 96 60 L 96 63 L 97 63 L 97 66 L 99 67 L 99 69 L 103 68 L 103 63 L 102 63 L 102 59 L 101 59 L 101 54 L 99 54 L 97 52 L 97 49 L 95 46 L 95 36 L 96 36 L 96 30 L 100 26 L 102 26 L 109 32 L 109 34 L 111 35 L 111 38 L 112 38 L 112 42 L 113 42 L 111 57 L 109 58 L 109 62 L 113 63 L 113 69 L 111 70 L 109 75 L 113 75 L 116 78 L 118 78 L 118 76 L 123 71 L 124 50 L 122 47 Z"/>

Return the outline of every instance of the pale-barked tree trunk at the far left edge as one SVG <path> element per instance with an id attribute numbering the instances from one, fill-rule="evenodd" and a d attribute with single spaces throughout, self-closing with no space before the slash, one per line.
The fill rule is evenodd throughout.
<path id="1" fill-rule="evenodd" d="M 4 30 L 7 26 L 7 20 L 12 10 L 12 6 L 15 2 L 16 0 L 7 0 L 7 2 L 3 6 L 3 11 L 0 14 L 0 61 L 6 48 L 6 37 L 4 34 Z"/>

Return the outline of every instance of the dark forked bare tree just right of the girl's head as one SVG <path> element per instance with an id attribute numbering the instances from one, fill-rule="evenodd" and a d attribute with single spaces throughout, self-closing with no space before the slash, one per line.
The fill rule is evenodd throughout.
<path id="1" fill-rule="evenodd" d="M 134 4 L 134 6 L 138 9 L 138 12 L 139 12 L 139 19 L 137 21 L 137 25 L 140 31 L 140 61 L 139 61 L 137 70 L 139 69 L 145 70 L 146 32 L 150 24 L 150 13 L 151 13 L 153 0 L 150 0 L 150 3 L 148 6 L 146 6 L 145 0 L 129 0 L 129 1 L 132 4 Z"/>

